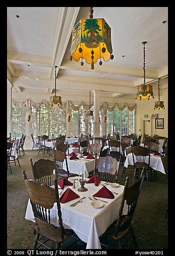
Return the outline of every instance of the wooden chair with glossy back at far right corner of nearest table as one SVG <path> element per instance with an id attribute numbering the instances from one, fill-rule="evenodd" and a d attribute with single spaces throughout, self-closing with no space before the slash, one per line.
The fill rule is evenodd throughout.
<path id="1" fill-rule="evenodd" d="M 111 157 L 111 155 L 108 155 L 107 157 L 102 157 L 98 159 L 96 175 L 100 178 L 101 181 L 118 181 L 120 158 L 118 161 L 115 158 Z"/>

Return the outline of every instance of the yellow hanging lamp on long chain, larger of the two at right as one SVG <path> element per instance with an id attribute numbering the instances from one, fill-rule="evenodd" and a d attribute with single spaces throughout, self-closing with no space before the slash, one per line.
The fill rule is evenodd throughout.
<path id="1" fill-rule="evenodd" d="M 147 44 L 147 42 L 142 42 L 143 44 L 143 77 L 144 77 L 144 81 L 143 81 L 143 85 L 141 86 L 137 86 L 137 91 L 136 91 L 136 97 L 135 99 L 141 98 L 143 99 L 150 99 L 150 98 L 154 98 L 153 95 L 153 91 L 152 91 L 152 86 L 150 86 L 149 84 L 145 84 L 145 44 Z"/>

